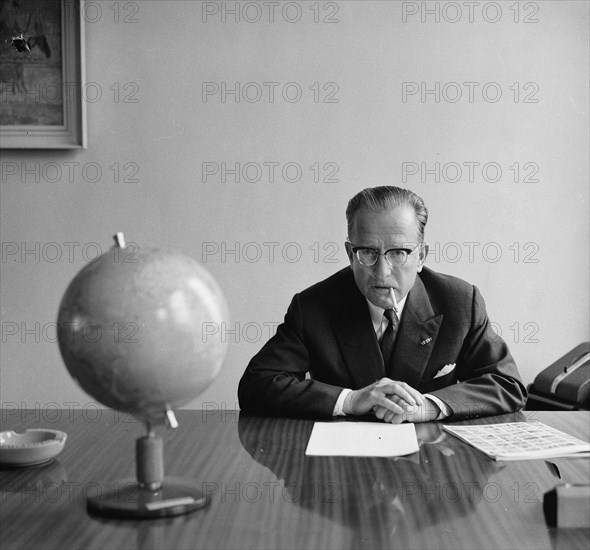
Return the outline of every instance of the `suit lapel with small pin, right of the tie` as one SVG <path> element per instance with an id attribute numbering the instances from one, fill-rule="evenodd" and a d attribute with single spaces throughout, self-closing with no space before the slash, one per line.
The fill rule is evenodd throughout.
<path id="1" fill-rule="evenodd" d="M 442 320 L 442 315 L 434 315 L 422 279 L 416 277 L 402 313 L 387 376 L 418 387 Z"/>

